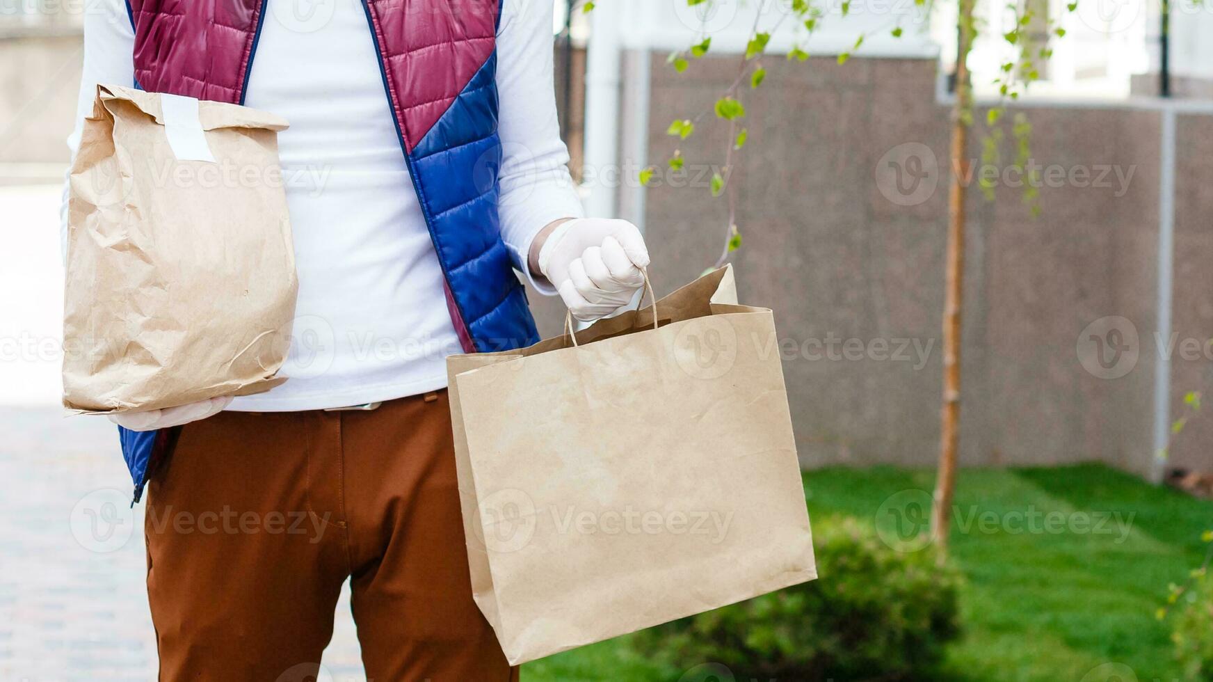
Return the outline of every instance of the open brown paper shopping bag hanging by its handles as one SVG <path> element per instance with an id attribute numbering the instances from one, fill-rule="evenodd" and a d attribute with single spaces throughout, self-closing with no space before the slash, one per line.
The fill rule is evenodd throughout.
<path id="1" fill-rule="evenodd" d="M 511 664 L 816 578 L 771 312 L 723 268 L 448 358 L 472 591 Z"/>

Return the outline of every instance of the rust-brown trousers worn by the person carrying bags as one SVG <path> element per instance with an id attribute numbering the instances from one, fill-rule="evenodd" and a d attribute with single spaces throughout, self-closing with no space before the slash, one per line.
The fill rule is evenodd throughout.
<path id="1" fill-rule="evenodd" d="M 221 413 L 153 466 L 160 680 L 314 677 L 347 578 L 369 680 L 518 680 L 472 601 L 445 391 Z"/>

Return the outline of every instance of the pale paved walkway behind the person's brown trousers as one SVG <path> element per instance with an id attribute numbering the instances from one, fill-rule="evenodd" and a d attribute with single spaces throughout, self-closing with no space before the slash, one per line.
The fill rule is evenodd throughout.
<path id="1" fill-rule="evenodd" d="M 0 407 L 0 680 L 155 680 L 143 505 L 115 428 Z M 348 589 L 324 664 L 318 682 L 364 680 Z"/>

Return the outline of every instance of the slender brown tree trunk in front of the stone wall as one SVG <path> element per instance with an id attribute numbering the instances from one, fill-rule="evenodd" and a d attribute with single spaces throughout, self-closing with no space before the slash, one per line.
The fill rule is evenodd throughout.
<path id="1" fill-rule="evenodd" d="M 932 538 L 940 561 L 947 556 L 956 450 L 961 421 L 961 294 L 964 284 L 964 194 L 969 177 L 968 137 L 973 93 L 966 58 L 973 46 L 973 0 L 957 2 L 956 100 L 952 104 L 951 187 L 947 210 L 946 291 L 944 300 L 944 404 L 940 415 L 939 474 L 932 510 Z"/>

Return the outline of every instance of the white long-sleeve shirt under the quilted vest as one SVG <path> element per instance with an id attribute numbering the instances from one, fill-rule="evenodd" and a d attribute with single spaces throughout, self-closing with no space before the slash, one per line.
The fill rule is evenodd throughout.
<path id="1" fill-rule="evenodd" d="M 360 1 L 315 0 L 311 10 L 269 0 L 249 78 L 245 104 L 290 121 L 279 150 L 300 291 L 280 373 L 290 380 L 238 398 L 235 410 L 326 409 L 434 391 L 446 386 L 446 356 L 461 352 Z M 552 11 L 547 0 L 503 0 L 497 29 L 501 237 L 528 277 L 536 233 L 582 215 L 557 123 Z M 84 39 L 73 153 L 97 84 L 133 81 L 124 0 L 91 4 Z"/>

